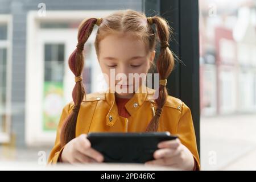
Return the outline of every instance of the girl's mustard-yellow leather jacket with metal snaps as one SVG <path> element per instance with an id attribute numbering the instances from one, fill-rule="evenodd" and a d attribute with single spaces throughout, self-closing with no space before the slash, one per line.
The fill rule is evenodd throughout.
<path id="1" fill-rule="evenodd" d="M 89 132 L 144 132 L 154 116 L 156 102 L 152 99 L 154 89 L 146 87 L 147 92 L 135 93 L 125 107 L 130 113 L 129 118 L 118 115 L 114 93 L 96 92 L 86 94 L 81 103 L 76 123 L 76 137 Z M 60 147 L 60 131 L 64 119 L 71 113 L 74 104 L 65 105 L 57 128 L 55 146 L 52 148 L 48 163 L 57 163 L 63 148 Z M 178 135 L 184 146 L 193 154 L 197 169 L 200 169 L 196 136 L 193 127 L 191 110 L 178 98 L 168 96 L 159 118 L 158 131 L 169 131 Z"/>

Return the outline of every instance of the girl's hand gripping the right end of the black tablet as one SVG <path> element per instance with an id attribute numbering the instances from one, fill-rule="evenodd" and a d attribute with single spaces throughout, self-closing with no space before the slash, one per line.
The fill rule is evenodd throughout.
<path id="1" fill-rule="evenodd" d="M 146 162 L 146 165 L 170 166 L 174 168 L 193 170 L 195 160 L 193 155 L 181 144 L 179 139 L 158 143 L 158 150 L 154 152 L 155 160 Z"/>

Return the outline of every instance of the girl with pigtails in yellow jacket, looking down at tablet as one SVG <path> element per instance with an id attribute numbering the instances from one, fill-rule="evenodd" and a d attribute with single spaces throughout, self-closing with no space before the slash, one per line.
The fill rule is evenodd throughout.
<path id="1" fill-rule="evenodd" d="M 111 70 L 123 75 L 146 74 L 154 65 L 156 41 L 160 53 L 156 62 L 159 89 L 144 84 L 127 84 L 126 78 L 114 81 L 106 92 L 85 94 L 81 72 L 84 68 L 82 50 L 94 25 L 99 26 L 94 46 L 102 72 L 111 82 Z M 156 26 L 156 33 L 152 29 Z M 200 169 L 191 111 L 178 98 L 168 96 L 166 78 L 174 68 L 169 48 L 171 28 L 160 16 L 146 17 L 133 10 L 118 11 L 106 18 L 90 18 L 79 26 L 77 48 L 69 57 L 69 68 L 75 75 L 73 101 L 67 104 L 48 163 L 103 162 L 100 152 L 90 147 L 89 132 L 169 131 L 179 139 L 160 142 L 154 160 L 146 165 L 170 166 L 185 170 Z M 143 79 L 140 78 L 143 81 Z M 119 92 L 113 88 L 132 90 Z M 139 92 L 138 92 L 139 90 Z M 145 92 L 141 92 L 144 90 Z M 155 94 L 158 97 L 155 98 Z M 155 109 L 156 108 L 156 109 Z"/>

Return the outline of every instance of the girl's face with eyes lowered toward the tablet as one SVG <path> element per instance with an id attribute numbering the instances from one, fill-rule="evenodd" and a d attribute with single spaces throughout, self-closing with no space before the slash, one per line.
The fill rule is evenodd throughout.
<path id="1" fill-rule="evenodd" d="M 142 75 L 146 76 L 154 57 L 155 51 L 147 53 L 143 42 L 126 33 L 108 35 L 101 40 L 98 61 L 101 71 L 108 76 L 106 81 L 109 86 L 115 86 L 115 94 L 118 97 L 131 98 L 141 85 L 143 77 L 140 77 L 139 81 L 138 77 L 134 76 L 133 79 L 129 79 L 131 76 L 129 73 L 138 73 L 138 75 L 143 73 Z"/>

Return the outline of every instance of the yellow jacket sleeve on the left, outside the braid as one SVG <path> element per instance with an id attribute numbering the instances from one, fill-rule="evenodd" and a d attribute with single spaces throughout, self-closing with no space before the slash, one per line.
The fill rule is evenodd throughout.
<path id="1" fill-rule="evenodd" d="M 61 146 L 60 146 L 60 132 L 61 132 L 61 127 L 62 127 L 65 119 L 68 117 L 69 107 L 70 107 L 70 104 L 67 104 L 67 105 L 64 106 L 64 108 L 62 110 L 59 125 L 57 127 L 57 134 L 56 134 L 55 144 L 54 144 L 54 147 L 52 148 L 52 150 L 49 154 L 48 164 L 56 164 L 57 162 L 59 162 L 59 156 L 60 156 L 60 154 L 61 154 L 61 152 L 63 151 L 63 148 L 64 148 L 64 147 L 61 148 Z"/>

